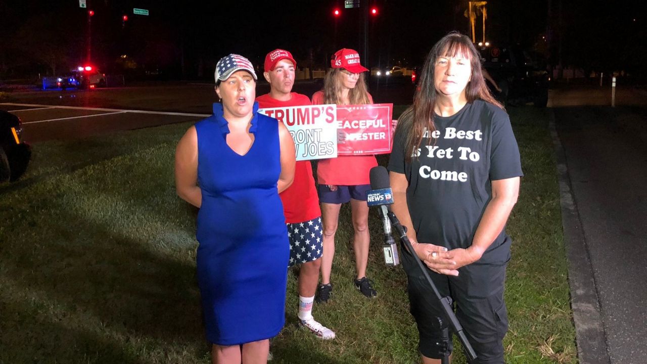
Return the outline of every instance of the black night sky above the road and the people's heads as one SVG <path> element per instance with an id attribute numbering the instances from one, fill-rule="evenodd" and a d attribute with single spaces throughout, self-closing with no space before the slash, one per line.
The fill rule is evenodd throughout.
<path id="1" fill-rule="evenodd" d="M 362 10 L 345 9 L 342 0 L 87 3 L 95 12 L 92 60 L 107 70 L 123 68 L 119 58 L 126 55 L 134 62 L 131 68 L 200 78 L 230 52 L 260 64 L 267 52 L 281 47 L 292 51 L 300 65 L 315 67 L 327 65 L 342 47 L 364 52 Z M 418 65 L 444 34 L 468 31 L 464 0 L 361 3 L 364 9 L 378 9 L 367 22 L 369 67 Z M 133 14 L 135 7 L 148 9 L 150 15 Z M 341 10 L 340 16 L 333 16 L 334 8 Z M 492 0 L 487 10 L 486 39 L 493 44 L 519 44 L 540 52 L 551 64 L 644 69 L 645 2 Z M 47 72 L 52 65 L 65 69 L 85 60 L 87 12 L 78 0 L 0 0 L 0 19 L 0 78 Z M 49 60 L 44 60 L 45 53 Z"/>

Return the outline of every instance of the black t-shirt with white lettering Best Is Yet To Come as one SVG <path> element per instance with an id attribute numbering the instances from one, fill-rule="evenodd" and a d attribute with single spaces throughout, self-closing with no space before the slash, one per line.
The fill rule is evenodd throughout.
<path id="1" fill-rule="evenodd" d="M 411 162 L 406 157 L 413 150 L 404 150 L 410 126 L 396 131 L 389 170 L 409 181 L 407 203 L 419 242 L 467 248 L 492 198 L 492 181 L 523 176 L 519 148 L 507 113 L 482 100 L 451 117 L 435 115 L 434 122 L 437 130 L 425 133 Z M 507 262 L 510 243 L 503 229 L 477 263 Z"/>

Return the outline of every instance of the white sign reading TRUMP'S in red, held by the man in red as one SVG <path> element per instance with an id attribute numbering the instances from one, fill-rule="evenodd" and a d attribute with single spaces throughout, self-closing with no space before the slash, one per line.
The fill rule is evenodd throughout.
<path id="1" fill-rule="evenodd" d="M 283 122 L 294 139 L 297 161 L 337 156 L 335 105 L 290 106 L 258 109 Z"/>

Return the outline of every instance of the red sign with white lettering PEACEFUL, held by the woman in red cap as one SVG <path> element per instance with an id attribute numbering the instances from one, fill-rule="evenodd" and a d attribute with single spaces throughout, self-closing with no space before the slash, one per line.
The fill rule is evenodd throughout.
<path id="1" fill-rule="evenodd" d="M 338 105 L 338 155 L 391 153 L 393 104 Z"/>

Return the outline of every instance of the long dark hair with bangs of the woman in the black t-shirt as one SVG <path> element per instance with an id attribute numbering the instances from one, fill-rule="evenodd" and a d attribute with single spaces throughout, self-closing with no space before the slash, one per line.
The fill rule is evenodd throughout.
<path id="1" fill-rule="evenodd" d="M 490 90 L 485 85 L 483 72 L 481 71 L 481 56 L 476 51 L 470 38 L 459 32 L 450 32 L 433 45 L 432 50 L 427 54 L 420 74 L 419 86 L 413 97 L 413 105 L 400 116 L 399 122 L 404 128 L 399 129 L 402 132 L 408 132 L 405 150 L 408 160 L 411 160 L 411 152 L 413 152 L 414 148 L 420 148 L 425 131 L 432 133 L 435 130 L 433 115 L 435 114 L 434 109 L 438 93 L 433 82 L 433 72 L 436 60 L 442 56 L 454 57 L 457 54 L 462 54 L 468 58 L 472 66 L 472 78 L 465 87 L 467 102 L 483 100 L 503 109 L 503 106 L 492 97 Z M 430 142 L 431 140 L 432 138 L 429 138 Z"/>

